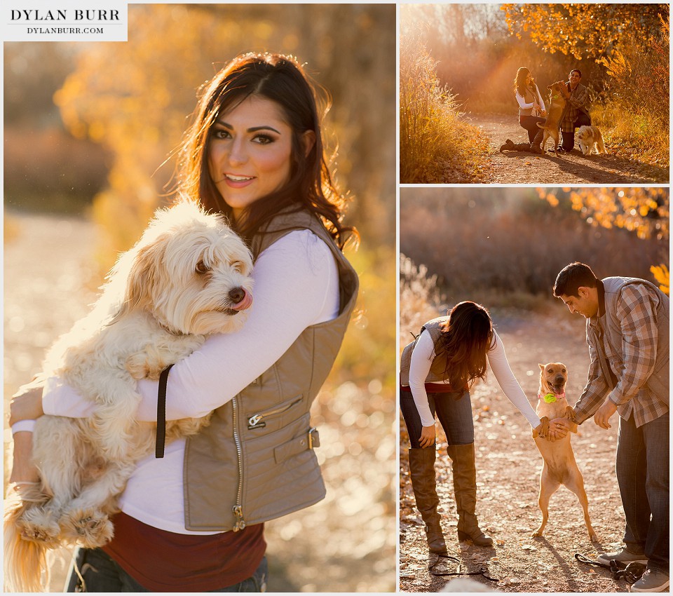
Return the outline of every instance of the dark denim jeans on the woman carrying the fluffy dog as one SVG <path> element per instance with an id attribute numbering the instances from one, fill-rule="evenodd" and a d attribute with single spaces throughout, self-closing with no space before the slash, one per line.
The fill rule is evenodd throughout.
<path id="1" fill-rule="evenodd" d="M 82 589 L 81 581 L 71 566 L 66 592 L 151 592 L 137 583 L 100 548 L 79 548 L 75 560 L 86 583 L 86 590 Z M 268 567 L 264 557 L 252 577 L 236 585 L 208 592 L 266 592 L 267 579 Z"/>

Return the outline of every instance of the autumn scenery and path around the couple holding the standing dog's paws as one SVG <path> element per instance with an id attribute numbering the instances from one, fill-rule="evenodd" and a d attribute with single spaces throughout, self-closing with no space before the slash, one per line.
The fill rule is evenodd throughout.
<path id="1" fill-rule="evenodd" d="M 669 294 L 669 189 L 402 188 L 400 189 L 400 349 L 423 323 L 463 300 L 487 306 L 512 372 L 535 407 L 538 363 L 563 362 L 573 405 L 587 379 L 585 320 L 552 297 L 566 264 L 589 264 L 599 278 L 632 276 Z M 625 592 L 608 570 L 579 564 L 620 548 L 624 513 L 614 473 L 617 424 L 592 421 L 573 435 L 590 515 L 590 543 L 576 497 L 560 489 L 543 538 L 531 531 L 538 510 L 541 457 L 531 429 L 493 374 L 470 391 L 475 421 L 477 515 L 493 548 L 458 543 L 447 440 L 437 427 L 437 492 L 449 555 L 476 581 L 503 592 Z M 440 592 L 451 561 L 428 555 L 409 480 L 409 438 L 400 417 L 400 590 Z M 475 590 L 476 591 L 476 590 Z"/>

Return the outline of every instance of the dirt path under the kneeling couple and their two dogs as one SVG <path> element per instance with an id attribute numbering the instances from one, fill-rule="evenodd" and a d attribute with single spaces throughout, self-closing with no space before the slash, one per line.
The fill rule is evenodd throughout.
<path id="1" fill-rule="evenodd" d="M 490 139 L 491 165 L 484 168 L 487 184 L 649 184 L 669 180 L 668 168 L 656 168 L 636 160 L 607 155 L 583 156 L 576 148 L 571 154 L 545 154 L 504 151 L 506 139 L 527 142 L 526 130 L 516 116 L 473 114 L 468 121 L 482 128 Z M 548 140 L 547 148 L 552 142 Z M 606 143 L 609 152 L 609 144 Z"/>

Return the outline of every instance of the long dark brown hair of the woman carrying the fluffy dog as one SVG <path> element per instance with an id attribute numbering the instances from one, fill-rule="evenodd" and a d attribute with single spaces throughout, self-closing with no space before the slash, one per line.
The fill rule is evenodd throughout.
<path id="1" fill-rule="evenodd" d="M 200 88 L 200 99 L 186 130 L 179 155 L 178 190 L 198 198 L 208 210 L 231 217 L 231 208 L 224 202 L 208 170 L 208 151 L 212 125 L 220 114 L 233 109 L 251 95 L 264 97 L 278 104 L 292 128 L 290 180 L 278 191 L 261 197 L 248 205 L 241 221 L 232 222 L 241 236 L 250 240 L 263 233 L 264 224 L 280 210 L 308 209 L 320 216 L 339 248 L 353 227 L 341 223 L 345 198 L 332 181 L 320 135 L 318 90 L 322 90 L 325 109 L 329 107 L 327 91 L 318 88 L 292 56 L 276 53 L 247 53 L 239 55 Z M 315 143 L 306 154 L 303 135 L 315 133 Z"/>

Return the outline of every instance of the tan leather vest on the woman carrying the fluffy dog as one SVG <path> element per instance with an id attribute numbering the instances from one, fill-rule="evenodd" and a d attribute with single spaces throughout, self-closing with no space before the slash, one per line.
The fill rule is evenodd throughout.
<path id="1" fill-rule="evenodd" d="M 337 358 L 355 306 L 358 276 L 308 211 L 274 217 L 266 233 L 252 238 L 254 257 L 301 229 L 322 238 L 337 261 L 339 316 L 307 327 L 278 362 L 215 410 L 210 426 L 189 438 L 184 458 L 186 529 L 237 531 L 325 497 L 313 452 L 320 442 L 309 409 Z"/>

